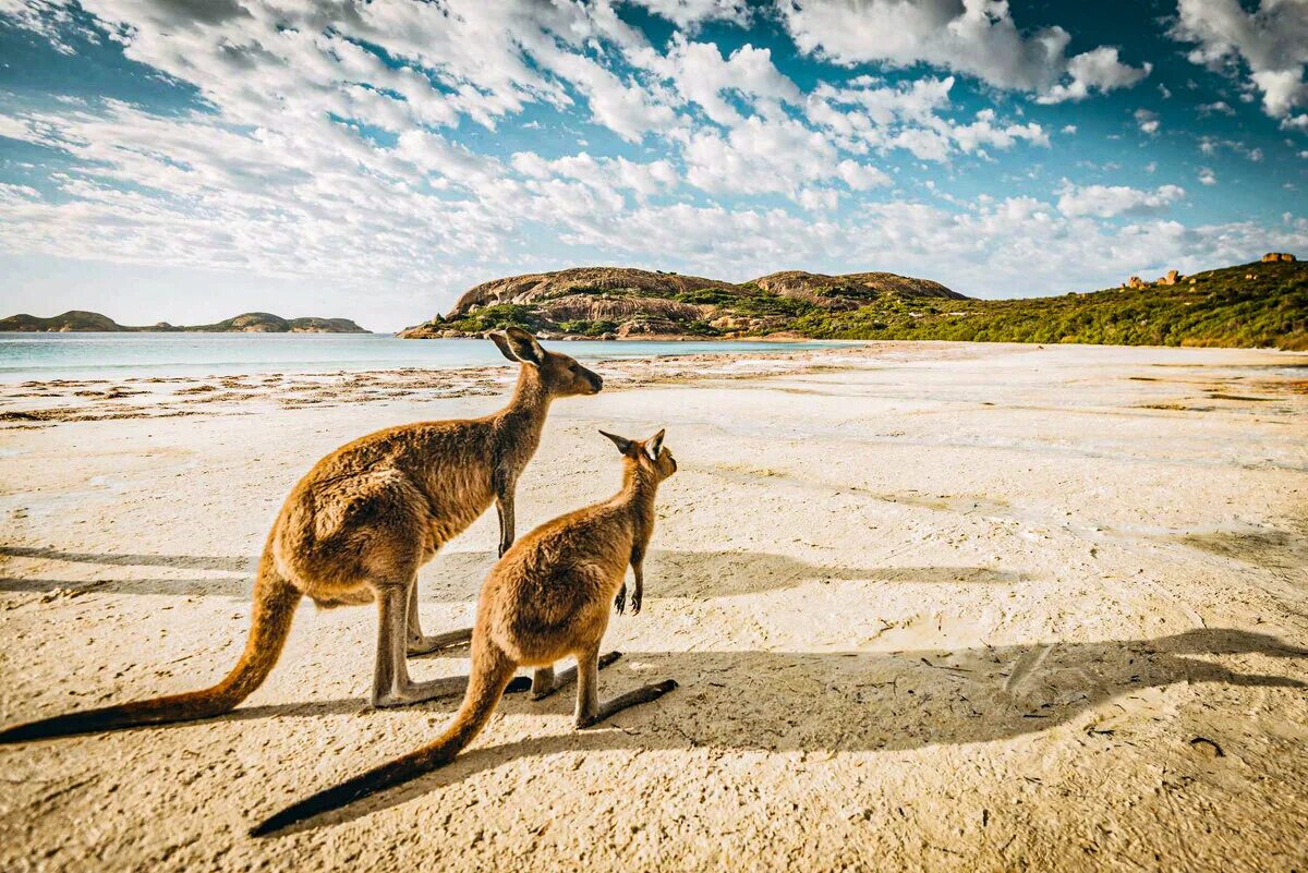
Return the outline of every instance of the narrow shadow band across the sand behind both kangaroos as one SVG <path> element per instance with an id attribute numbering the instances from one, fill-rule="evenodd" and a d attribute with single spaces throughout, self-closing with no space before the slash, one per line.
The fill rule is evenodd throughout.
<path id="1" fill-rule="evenodd" d="M 251 572 L 254 558 L 199 555 L 89 554 L 54 549 L 0 546 L 0 555 L 102 563 L 109 566 L 161 566 L 194 570 Z M 419 599 L 424 602 L 468 602 L 477 599 L 487 572 L 496 562 L 492 552 L 449 552 L 424 567 Z M 808 582 L 887 582 L 935 584 L 1020 584 L 1031 576 L 980 566 L 859 567 L 821 565 L 768 552 L 676 552 L 655 549 L 645 561 L 651 597 L 708 599 L 756 595 L 793 588 Z M 0 578 L 0 591 L 55 589 L 126 595 L 178 595 L 246 599 L 252 575 L 190 579 L 21 579 Z"/>

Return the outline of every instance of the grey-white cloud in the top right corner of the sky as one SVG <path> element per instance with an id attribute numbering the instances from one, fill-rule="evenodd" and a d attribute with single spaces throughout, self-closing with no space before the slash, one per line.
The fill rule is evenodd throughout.
<path id="1" fill-rule="evenodd" d="M 1179 0 L 1169 35 L 1197 43 L 1188 58 L 1210 69 L 1235 73 L 1243 61 L 1267 115 L 1286 118 L 1308 103 L 1308 3 L 1303 0 L 1260 0 L 1252 12 L 1240 0 Z"/>

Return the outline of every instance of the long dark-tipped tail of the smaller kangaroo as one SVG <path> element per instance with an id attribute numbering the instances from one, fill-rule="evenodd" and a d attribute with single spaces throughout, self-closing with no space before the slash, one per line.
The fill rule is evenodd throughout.
<path id="1" fill-rule="evenodd" d="M 458 715 L 454 716 L 454 723 L 439 738 L 286 806 L 280 813 L 251 827 L 250 836 L 264 836 L 320 813 L 340 809 L 349 802 L 392 788 L 450 763 L 490 720 L 490 715 L 515 669 L 517 664 L 494 643 L 475 639 L 468 690 L 463 695 L 463 704 L 459 707 Z"/>

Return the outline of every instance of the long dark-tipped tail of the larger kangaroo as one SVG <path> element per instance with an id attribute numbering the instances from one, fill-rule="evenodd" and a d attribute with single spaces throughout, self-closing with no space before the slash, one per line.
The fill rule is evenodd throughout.
<path id="1" fill-rule="evenodd" d="M 273 568 L 267 553 L 259 563 L 254 584 L 254 614 L 250 638 L 241 660 L 232 672 L 212 687 L 186 694 L 171 694 L 150 700 L 135 700 L 85 712 L 69 712 L 51 719 L 30 721 L 0 731 L 0 744 L 64 737 L 75 733 L 116 731 L 141 724 L 191 721 L 222 715 L 259 687 L 277 663 L 290 635 L 290 621 L 301 593 Z"/>

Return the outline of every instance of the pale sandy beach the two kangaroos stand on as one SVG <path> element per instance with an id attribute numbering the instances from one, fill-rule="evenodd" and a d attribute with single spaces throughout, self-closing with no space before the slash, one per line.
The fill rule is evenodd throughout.
<path id="1" fill-rule="evenodd" d="M 305 605 L 228 717 L 0 749 L 0 869 L 1308 869 L 1308 355 L 600 369 L 613 389 L 556 404 L 519 529 L 616 489 L 595 427 L 668 427 L 645 612 L 602 682 L 679 690 L 582 733 L 566 695 L 506 699 L 454 766 L 251 840 L 456 706 L 366 710 L 374 612 Z M 490 410 L 506 375 L 0 389 L 0 723 L 216 680 L 296 478 Z M 429 630 L 468 623 L 494 533 L 424 568 Z"/>

